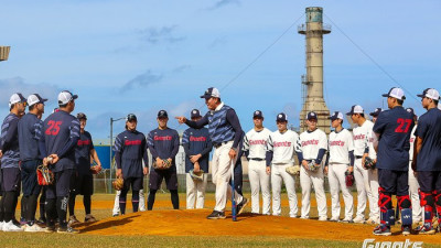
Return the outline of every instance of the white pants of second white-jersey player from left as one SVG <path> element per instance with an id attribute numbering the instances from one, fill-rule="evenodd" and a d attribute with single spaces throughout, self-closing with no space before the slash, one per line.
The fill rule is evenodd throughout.
<path id="1" fill-rule="evenodd" d="M 288 174 L 286 169 L 292 164 L 272 164 L 271 166 L 271 187 L 272 187 L 272 215 L 281 214 L 280 207 L 280 191 L 282 181 L 288 192 L 288 202 L 290 206 L 290 217 L 297 217 L 297 195 L 294 176 Z"/>

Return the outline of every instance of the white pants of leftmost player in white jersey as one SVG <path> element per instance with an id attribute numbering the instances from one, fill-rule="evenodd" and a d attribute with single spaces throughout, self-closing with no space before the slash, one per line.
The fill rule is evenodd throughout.
<path id="1" fill-rule="evenodd" d="M 267 174 L 266 161 L 250 160 L 248 162 L 248 177 L 251 186 L 251 213 L 254 214 L 260 213 L 260 197 L 259 197 L 259 188 L 260 188 L 262 192 L 262 200 L 263 200 L 262 214 L 269 215 L 271 205 L 269 181 L 271 175 Z"/>

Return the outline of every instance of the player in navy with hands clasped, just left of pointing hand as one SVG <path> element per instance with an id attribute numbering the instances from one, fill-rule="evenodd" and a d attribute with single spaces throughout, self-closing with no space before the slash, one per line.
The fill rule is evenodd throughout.
<path id="1" fill-rule="evenodd" d="M 157 120 L 158 128 L 150 131 L 148 136 L 149 150 L 157 164 L 157 169 L 152 166 L 150 170 L 150 192 L 147 201 L 147 209 L 153 209 L 154 197 L 157 191 L 161 187 L 163 179 L 165 179 L 166 188 L 170 191 L 173 208 L 179 209 L 175 157 L 179 151 L 180 139 L 176 130 L 166 126 L 169 115 L 165 110 L 160 110 L 158 112 Z M 171 166 L 162 169 L 161 166 L 163 166 L 164 163 L 171 163 Z"/>

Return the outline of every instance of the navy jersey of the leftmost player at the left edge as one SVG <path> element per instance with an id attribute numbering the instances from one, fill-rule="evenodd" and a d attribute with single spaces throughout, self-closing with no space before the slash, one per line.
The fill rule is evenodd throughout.
<path id="1" fill-rule="evenodd" d="M 1 168 L 19 168 L 19 120 L 20 118 L 11 112 L 1 125 L 0 150 L 3 152 Z"/>

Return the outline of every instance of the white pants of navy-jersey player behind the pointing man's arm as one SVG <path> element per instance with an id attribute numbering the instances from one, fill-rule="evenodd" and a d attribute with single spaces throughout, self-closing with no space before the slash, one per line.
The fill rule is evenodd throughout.
<path id="1" fill-rule="evenodd" d="M 207 179 L 207 174 L 204 173 L 203 181 L 196 181 L 186 173 L 186 209 L 194 209 L 195 201 L 196 209 L 204 208 Z"/>

